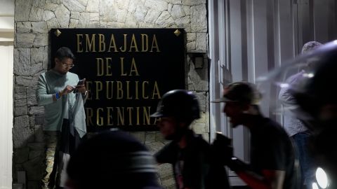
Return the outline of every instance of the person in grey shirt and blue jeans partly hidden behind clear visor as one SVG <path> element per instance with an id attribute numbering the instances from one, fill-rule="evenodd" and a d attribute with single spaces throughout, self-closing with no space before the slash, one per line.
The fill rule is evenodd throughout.
<path id="1" fill-rule="evenodd" d="M 302 48 L 302 55 L 319 48 L 321 45 L 322 43 L 317 41 L 305 43 Z M 311 66 L 313 65 L 307 64 L 300 72 L 289 76 L 289 78 L 286 79 L 286 83 L 289 85 L 282 87 L 279 91 L 279 101 L 284 105 L 284 129 L 296 145 L 298 158 L 300 160 L 301 185 L 303 185 L 304 188 L 311 186 L 311 183 L 315 181 L 315 167 L 313 165 L 312 155 L 310 155 L 308 149 L 308 140 L 311 131 L 303 120 L 296 117 L 296 100 L 291 94 L 290 88 L 303 79 L 303 75 L 310 71 Z"/>

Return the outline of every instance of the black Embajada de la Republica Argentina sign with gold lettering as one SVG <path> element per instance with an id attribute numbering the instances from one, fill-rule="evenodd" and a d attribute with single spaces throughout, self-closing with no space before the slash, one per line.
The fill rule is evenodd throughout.
<path id="1" fill-rule="evenodd" d="M 51 62 L 56 50 L 74 52 L 70 70 L 86 78 L 89 132 L 157 130 L 150 118 L 162 95 L 185 88 L 183 29 L 51 29 Z"/>

